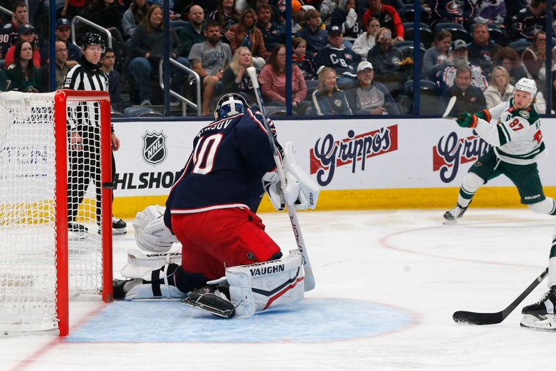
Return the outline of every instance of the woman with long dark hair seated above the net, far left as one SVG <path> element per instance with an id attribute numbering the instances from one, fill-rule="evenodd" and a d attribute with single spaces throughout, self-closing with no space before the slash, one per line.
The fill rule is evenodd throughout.
<path id="1" fill-rule="evenodd" d="M 39 69 L 33 65 L 34 42 L 21 40 L 15 45 L 14 61 L 6 69 L 6 90 L 38 93 Z"/>

